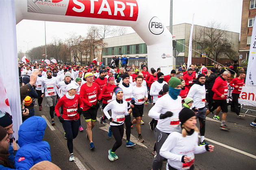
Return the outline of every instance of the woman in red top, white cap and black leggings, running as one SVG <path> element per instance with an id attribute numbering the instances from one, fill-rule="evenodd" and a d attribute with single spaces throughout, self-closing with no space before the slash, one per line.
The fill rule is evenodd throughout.
<path id="1" fill-rule="evenodd" d="M 67 93 L 63 96 L 55 106 L 55 113 L 62 123 L 67 137 L 67 148 L 69 151 L 69 161 L 74 161 L 73 139 L 76 138 L 79 128 L 80 114 L 82 113 L 83 102 L 80 96 L 76 94 L 77 85 L 70 83 L 67 85 Z M 79 104 L 79 107 L 78 107 Z M 63 106 L 62 116 L 59 108 Z"/>

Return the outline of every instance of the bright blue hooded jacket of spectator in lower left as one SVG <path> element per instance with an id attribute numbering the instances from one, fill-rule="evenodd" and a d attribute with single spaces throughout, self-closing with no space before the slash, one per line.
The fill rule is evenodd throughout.
<path id="1" fill-rule="evenodd" d="M 28 170 L 40 161 L 51 161 L 50 145 L 43 140 L 46 120 L 32 116 L 20 125 L 18 149 L 15 155 L 15 167 Z"/>

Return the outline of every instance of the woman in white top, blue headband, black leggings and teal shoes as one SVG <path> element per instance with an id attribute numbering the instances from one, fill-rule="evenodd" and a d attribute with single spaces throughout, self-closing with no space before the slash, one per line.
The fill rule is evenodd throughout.
<path id="1" fill-rule="evenodd" d="M 108 105 L 106 105 L 106 107 L 103 110 L 104 114 L 110 121 L 109 129 L 111 129 L 116 141 L 112 149 L 108 150 L 108 159 L 111 161 L 118 159 L 118 156 L 115 154 L 115 151 L 122 145 L 122 138 L 124 136 L 125 117 L 130 115 L 130 113 L 132 112 L 132 109 L 128 110 L 127 108 L 128 103 L 125 100 L 123 100 L 124 94 L 122 89 L 120 87 L 115 87 L 114 93 L 116 99 L 110 102 Z M 111 116 L 108 114 L 108 110 L 111 110 Z"/>

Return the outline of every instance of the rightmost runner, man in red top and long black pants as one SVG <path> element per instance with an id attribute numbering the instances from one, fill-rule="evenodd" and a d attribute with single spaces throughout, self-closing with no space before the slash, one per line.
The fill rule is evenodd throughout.
<path id="1" fill-rule="evenodd" d="M 234 87 L 234 90 L 232 91 L 232 107 L 234 107 L 234 112 L 237 115 L 237 118 L 243 118 L 245 115 L 240 114 L 240 109 L 239 109 L 239 103 L 238 103 L 238 98 L 239 95 L 241 94 L 242 87 L 245 86 L 244 79 L 245 79 L 245 72 L 240 72 L 239 77 L 234 78 L 229 85 L 231 87 Z"/>

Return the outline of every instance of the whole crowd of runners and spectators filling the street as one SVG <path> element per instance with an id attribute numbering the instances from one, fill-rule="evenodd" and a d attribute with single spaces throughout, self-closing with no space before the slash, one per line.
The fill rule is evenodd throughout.
<path id="1" fill-rule="evenodd" d="M 43 100 L 50 110 L 51 125 L 54 126 L 56 121 L 54 112 L 63 125 L 69 161 L 75 160 L 73 139 L 79 131 L 84 130 L 80 117 L 86 122 L 89 148 L 95 149 L 97 144 L 93 142 L 93 128 L 99 108 L 102 110 L 100 123 L 107 123 L 108 120 L 108 136 L 113 135 L 115 138 L 113 147 L 108 150 L 108 159 L 115 161 L 118 159 L 116 151 L 122 145 L 124 124 L 126 147 L 135 145 L 130 141 L 133 126 L 137 130 L 138 141 L 145 141 L 141 134 L 143 110 L 144 106 L 153 104 L 148 112 L 148 116 L 152 118 L 149 122 L 150 130 L 154 130 L 155 136 L 152 148 L 153 170 L 160 169 L 165 159 L 167 170 L 193 169 L 194 154 L 214 150 L 214 146 L 204 138 L 208 114 L 213 113 L 213 119 L 220 121 L 221 130 L 230 130 L 226 125 L 227 80 L 231 75 L 228 70 L 208 70 L 202 63 L 200 70 L 195 70 L 198 68 L 190 65 L 187 70 L 185 67 L 182 70 L 179 68 L 178 72 L 171 70 L 170 74 L 164 75 L 161 68 L 150 68 L 148 72 L 148 68 L 143 65 L 141 72 L 135 69 L 132 74 L 132 70 L 126 68 L 125 56 L 121 57 L 124 67 L 116 65 L 117 61 L 119 63 L 118 57 L 113 57 L 112 60 L 111 67 L 19 63 L 23 123 L 19 130 L 18 144 L 21 148 L 17 150 L 13 139 L 11 116 L 0 113 L 0 126 L 3 127 L 0 128 L 0 168 L 19 169 L 26 166 L 29 169 L 40 161 L 51 161 L 50 146 L 48 142 L 42 141 L 46 121 L 35 116 L 34 110 L 35 106 L 39 107 L 39 111 L 44 109 Z M 240 114 L 238 103 L 239 94 L 245 85 L 245 71 L 246 68 L 242 68 L 229 83 L 234 87 L 232 106 L 239 119 L 245 116 Z M 221 118 L 218 116 L 220 111 Z M 199 130 L 196 119 L 200 123 Z M 251 125 L 256 127 L 256 120 Z M 31 148 L 35 152 L 29 152 Z M 37 157 L 38 155 L 41 156 Z M 30 159 L 34 160 L 33 163 Z"/>

